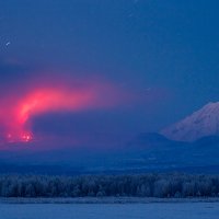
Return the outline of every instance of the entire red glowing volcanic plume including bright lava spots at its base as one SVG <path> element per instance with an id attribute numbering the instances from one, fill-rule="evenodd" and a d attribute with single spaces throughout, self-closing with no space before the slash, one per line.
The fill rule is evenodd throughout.
<path id="1" fill-rule="evenodd" d="M 79 112 L 110 107 L 118 96 L 111 85 L 87 85 L 87 88 L 34 88 L 19 97 L 9 97 L 1 103 L 0 120 L 5 126 L 7 142 L 30 142 L 34 139 L 32 116 L 49 112 Z"/>

